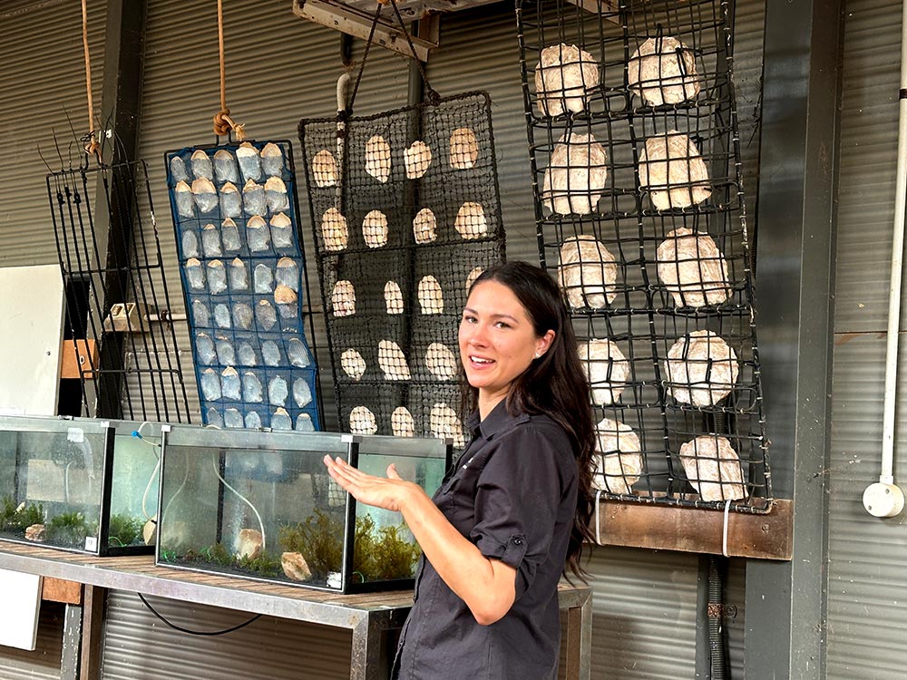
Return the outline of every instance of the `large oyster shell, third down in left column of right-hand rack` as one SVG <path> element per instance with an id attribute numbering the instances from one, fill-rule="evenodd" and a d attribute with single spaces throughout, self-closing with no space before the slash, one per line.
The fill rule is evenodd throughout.
<path id="1" fill-rule="evenodd" d="M 566 239 L 561 246 L 558 280 L 571 307 L 602 309 L 617 296 L 618 267 L 605 245 L 588 234 Z"/>

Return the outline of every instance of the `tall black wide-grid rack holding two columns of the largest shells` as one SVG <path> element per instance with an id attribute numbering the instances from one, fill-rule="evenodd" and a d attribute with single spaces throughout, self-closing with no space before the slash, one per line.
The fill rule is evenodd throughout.
<path id="1" fill-rule="evenodd" d="M 540 258 L 586 353 L 600 486 L 767 511 L 733 6 L 579 5 L 517 2 L 517 24 Z"/>

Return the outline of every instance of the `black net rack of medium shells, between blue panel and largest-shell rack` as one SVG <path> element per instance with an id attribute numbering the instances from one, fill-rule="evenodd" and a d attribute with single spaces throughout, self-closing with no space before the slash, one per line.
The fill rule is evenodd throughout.
<path id="1" fill-rule="evenodd" d="M 341 427 L 462 446 L 460 311 L 504 255 L 490 97 L 303 120 L 299 139 Z"/>

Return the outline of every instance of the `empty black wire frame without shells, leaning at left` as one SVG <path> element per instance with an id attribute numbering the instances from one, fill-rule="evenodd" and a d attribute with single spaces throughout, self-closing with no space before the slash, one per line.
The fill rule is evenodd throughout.
<path id="1" fill-rule="evenodd" d="M 51 172 L 46 182 L 85 414 L 190 423 L 144 162 Z M 117 321 L 114 306 L 124 313 Z M 162 323 L 151 323 L 155 315 Z M 131 377 L 135 390 L 126 385 Z"/>

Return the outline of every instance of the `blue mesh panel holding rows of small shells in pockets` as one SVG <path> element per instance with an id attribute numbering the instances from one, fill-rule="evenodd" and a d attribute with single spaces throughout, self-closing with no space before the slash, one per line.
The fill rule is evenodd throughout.
<path id="1" fill-rule="evenodd" d="M 164 160 L 203 421 L 320 429 L 292 144 L 203 145 Z"/>

